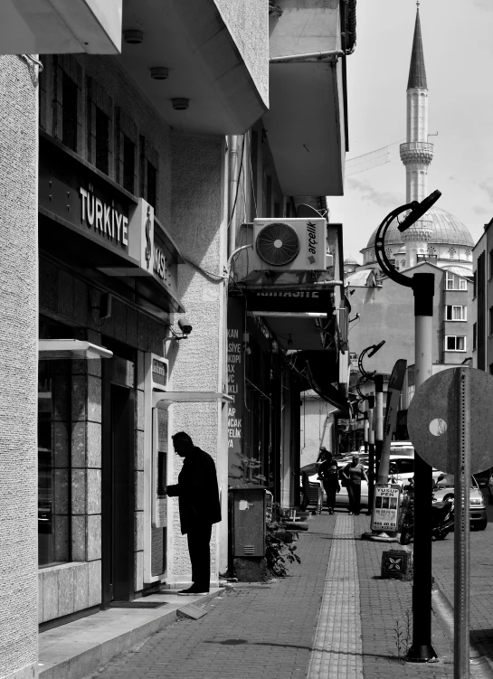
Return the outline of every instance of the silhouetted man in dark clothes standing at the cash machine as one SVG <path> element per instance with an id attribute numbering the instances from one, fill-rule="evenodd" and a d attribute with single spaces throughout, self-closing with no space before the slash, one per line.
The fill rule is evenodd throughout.
<path id="1" fill-rule="evenodd" d="M 205 594 L 211 583 L 211 533 L 213 523 L 221 521 L 219 488 L 213 458 L 194 446 L 185 431 L 172 437 L 175 452 L 184 464 L 175 486 L 167 486 L 166 494 L 178 497 L 182 535 L 188 540 L 192 563 L 192 587 L 178 594 Z"/>

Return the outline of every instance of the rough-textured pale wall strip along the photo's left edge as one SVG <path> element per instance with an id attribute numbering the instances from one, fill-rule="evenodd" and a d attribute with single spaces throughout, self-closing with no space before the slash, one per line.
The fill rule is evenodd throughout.
<path id="1" fill-rule="evenodd" d="M 0 676 L 37 675 L 36 71 L 0 56 Z"/>

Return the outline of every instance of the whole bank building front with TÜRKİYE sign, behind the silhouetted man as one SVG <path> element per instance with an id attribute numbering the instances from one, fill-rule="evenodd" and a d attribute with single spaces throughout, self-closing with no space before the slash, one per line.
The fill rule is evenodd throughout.
<path id="1" fill-rule="evenodd" d="M 37 674 L 38 622 L 191 581 L 176 430 L 215 461 L 227 562 L 228 136 L 269 99 L 268 5 L 236 5 L 128 3 L 118 44 L 52 16 L 17 35 L 41 65 L 2 57 L 2 677 Z"/>

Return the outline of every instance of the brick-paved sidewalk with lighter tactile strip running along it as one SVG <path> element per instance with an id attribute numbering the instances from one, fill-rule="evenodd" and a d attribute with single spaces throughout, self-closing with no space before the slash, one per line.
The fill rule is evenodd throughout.
<path id="1" fill-rule="evenodd" d="M 451 678 L 450 648 L 436 625 L 433 645 L 447 662 L 411 665 L 397 660 L 393 627 L 398 619 L 403 623 L 411 606 L 411 583 L 380 580 L 381 554 L 389 545 L 359 539 L 368 521 L 344 512 L 311 517 L 309 532 L 300 533 L 296 543 L 301 565 L 290 566 L 289 577 L 225 591 L 207 604 L 204 618 L 166 627 L 93 676 Z"/>

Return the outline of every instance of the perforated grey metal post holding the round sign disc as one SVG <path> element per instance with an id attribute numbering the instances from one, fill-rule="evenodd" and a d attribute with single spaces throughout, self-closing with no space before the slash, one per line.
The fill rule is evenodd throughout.
<path id="1" fill-rule="evenodd" d="M 454 506 L 454 679 L 469 679 L 470 371 L 456 374 L 457 432 Z"/>

